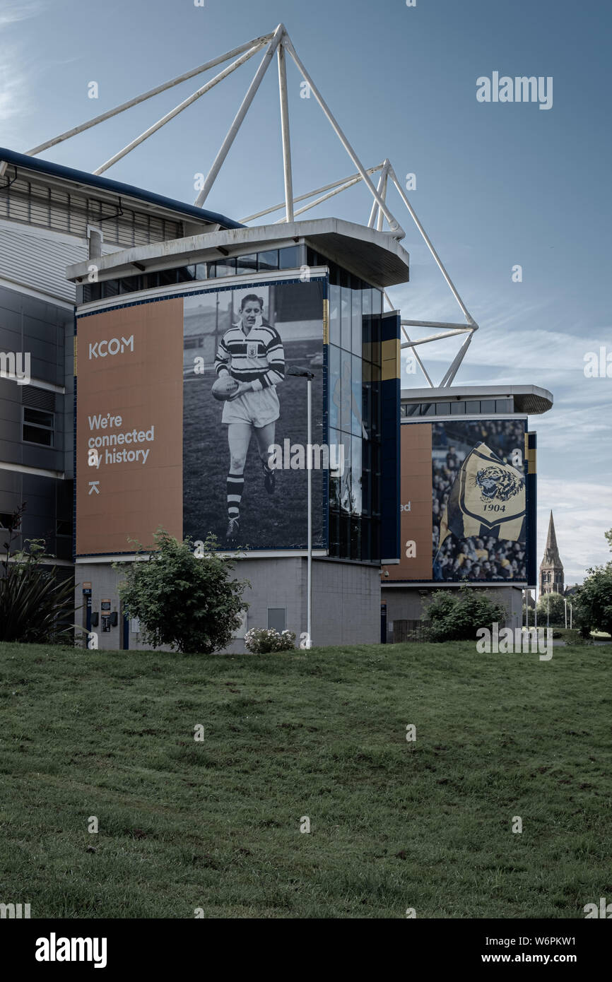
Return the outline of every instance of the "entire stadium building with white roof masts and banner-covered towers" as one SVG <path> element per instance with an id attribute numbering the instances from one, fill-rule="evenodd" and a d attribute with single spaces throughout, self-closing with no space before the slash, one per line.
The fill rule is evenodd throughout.
<path id="1" fill-rule="evenodd" d="M 193 205 L 101 176 L 261 51 Z M 284 200 L 235 221 L 204 205 L 275 57 Z M 232 58 L 94 173 L 38 159 Z M 357 170 L 299 197 L 288 58 Z M 360 183 L 367 224 L 298 217 Z M 410 271 L 392 188 L 461 322 L 394 308 L 387 288 Z M 100 648 L 143 646 L 118 585 L 159 528 L 196 554 L 212 533 L 239 560 L 236 651 L 250 627 L 305 646 L 398 640 L 432 589 L 465 580 L 514 626 L 535 575 L 528 415 L 552 397 L 453 387 L 477 327 L 391 162 L 363 167 L 279 25 L 26 154 L 0 149 L 0 524 L 26 503 L 17 544 L 43 538 L 75 577 Z M 435 387 L 420 346 L 449 336 L 461 348 Z M 428 389 L 400 392 L 402 351 Z"/>

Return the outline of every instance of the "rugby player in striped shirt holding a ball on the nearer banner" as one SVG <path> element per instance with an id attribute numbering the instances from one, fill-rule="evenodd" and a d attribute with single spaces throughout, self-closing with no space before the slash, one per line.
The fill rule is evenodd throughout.
<path id="1" fill-rule="evenodd" d="M 228 428 L 230 457 L 228 542 L 236 541 L 240 532 L 245 466 L 253 433 L 265 490 L 271 495 L 276 485 L 276 474 L 268 458 L 280 416 L 276 390 L 285 378 L 285 353 L 278 331 L 264 317 L 263 306 L 263 299 L 256 294 L 243 297 L 236 322 L 221 338 L 215 358 L 217 376 L 222 378 L 227 374 L 238 382 L 238 389 L 225 402 L 221 417 L 221 423 Z"/>

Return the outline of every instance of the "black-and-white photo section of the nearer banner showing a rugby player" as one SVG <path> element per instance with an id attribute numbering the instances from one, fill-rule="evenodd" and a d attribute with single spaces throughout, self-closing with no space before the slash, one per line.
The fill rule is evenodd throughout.
<path id="1" fill-rule="evenodd" d="M 312 444 L 321 447 L 323 282 L 185 300 L 183 526 L 195 541 L 211 531 L 229 548 L 306 548 L 306 378 L 288 370 L 314 375 Z M 239 384 L 235 398 L 215 398 L 217 379 Z M 312 544 L 323 548 L 329 462 L 317 451 L 312 463 Z"/>

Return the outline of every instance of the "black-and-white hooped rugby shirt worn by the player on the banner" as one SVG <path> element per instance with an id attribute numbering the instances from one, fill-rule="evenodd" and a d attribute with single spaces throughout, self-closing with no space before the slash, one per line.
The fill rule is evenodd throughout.
<path id="1" fill-rule="evenodd" d="M 234 324 L 221 338 L 214 367 L 217 375 L 225 368 L 238 382 L 252 382 L 254 392 L 278 385 L 285 378 L 280 334 L 265 321 L 248 335 Z"/>

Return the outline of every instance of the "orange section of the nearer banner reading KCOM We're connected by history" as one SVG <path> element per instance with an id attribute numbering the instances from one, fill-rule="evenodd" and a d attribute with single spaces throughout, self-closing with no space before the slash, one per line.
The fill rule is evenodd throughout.
<path id="1" fill-rule="evenodd" d="M 183 300 L 80 317 L 77 555 L 183 537 Z"/>

